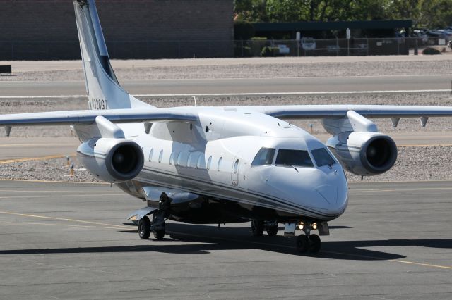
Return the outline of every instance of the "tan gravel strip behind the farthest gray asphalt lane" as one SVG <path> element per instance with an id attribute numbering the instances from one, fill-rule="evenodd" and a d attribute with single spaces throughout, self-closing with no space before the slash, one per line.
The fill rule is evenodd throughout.
<path id="1" fill-rule="evenodd" d="M 355 61 L 312 63 L 270 63 L 244 65 L 183 65 L 141 68 L 116 68 L 120 80 L 272 78 L 375 75 L 452 74 L 452 59 L 442 61 Z M 80 70 L 16 72 L 0 80 L 82 80 Z"/>

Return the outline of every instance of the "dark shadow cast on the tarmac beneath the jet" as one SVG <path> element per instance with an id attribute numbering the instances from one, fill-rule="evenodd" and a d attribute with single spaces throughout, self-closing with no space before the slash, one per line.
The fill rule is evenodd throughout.
<path id="1" fill-rule="evenodd" d="M 133 233 L 136 230 L 122 230 L 120 233 Z M 136 234 L 137 235 L 137 234 Z M 169 254 L 209 254 L 215 250 L 264 250 L 281 254 L 298 255 L 295 240 L 283 236 L 252 237 L 248 227 L 221 227 L 167 224 L 167 236 L 162 241 L 150 239 L 147 245 L 102 246 L 56 249 L 20 249 L 0 251 L 0 255 L 13 254 L 81 254 L 81 253 L 119 253 L 119 252 L 162 252 Z M 151 235 L 152 237 L 152 235 Z M 138 235 L 137 235 L 138 239 Z M 174 242 L 174 244 L 168 244 Z M 181 242 L 187 244 L 180 244 Z M 190 244 L 193 243 L 193 244 Z M 401 254 L 375 251 L 369 247 L 384 246 L 422 246 L 427 248 L 452 249 L 452 239 L 386 239 L 365 241 L 322 242 L 322 249 L 316 258 L 338 260 L 376 261 L 405 258 Z"/>

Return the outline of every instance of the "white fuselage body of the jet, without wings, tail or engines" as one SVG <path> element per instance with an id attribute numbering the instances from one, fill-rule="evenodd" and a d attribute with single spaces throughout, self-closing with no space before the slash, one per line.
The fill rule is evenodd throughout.
<path id="1" fill-rule="evenodd" d="M 119 125 L 145 156 L 141 173 L 123 189 L 142 196 L 141 187 L 165 187 L 242 206 L 269 208 L 281 218 L 297 215 L 332 220 L 347 206 L 347 180 L 337 161 L 332 165 L 251 166 L 261 148 L 326 148 L 304 130 L 268 115 L 240 108 L 191 107 L 194 123 Z M 139 126 L 139 127 L 138 127 Z M 124 187 L 127 188 L 124 188 Z"/>

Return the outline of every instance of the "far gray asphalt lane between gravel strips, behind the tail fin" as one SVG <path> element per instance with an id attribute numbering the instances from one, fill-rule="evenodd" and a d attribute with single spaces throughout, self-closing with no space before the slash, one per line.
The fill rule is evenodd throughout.
<path id="1" fill-rule="evenodd" d="M 121 80 L 134 95 L 241 94 L 299 92 L 369 92 L 400 90 L 448 90 L 450 75 L 297 77 L 268 79 Z M 0 96 L 85 95 L 83 81 L 4 81 Z"/>

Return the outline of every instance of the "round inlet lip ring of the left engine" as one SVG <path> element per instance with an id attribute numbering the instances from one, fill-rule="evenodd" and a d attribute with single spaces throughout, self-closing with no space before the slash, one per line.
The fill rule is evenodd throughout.
<path id="1" fill-rule="evenodd" d="M 118 148 L 123 147 L 123 146 L 131 146 L 133 148 L 133 150 L 136 152 L 137 162 L 136 162 L 135 168 L 133 168 L 128 173 L 119 173 L 113 166 L 113 154 L 115 151 L 117 151 Z M 107 156 L 105 157 L 105 166 L 106 166 L 108 172 L 113 177 L 117 178 L 117 180 L 126 181 L 126 180 L 133 179 L 141 172 L 141 170 L 143 169 L 143 165 L 144 165 L 143 150 L 141 149 L 140 146 L 138 146 L 138 144 L 136 144 L 136 142 L 118 143 L 118 144 L 112 146 L 111 149 L 109 149 L 109 151 L 107 152 Z"/>

